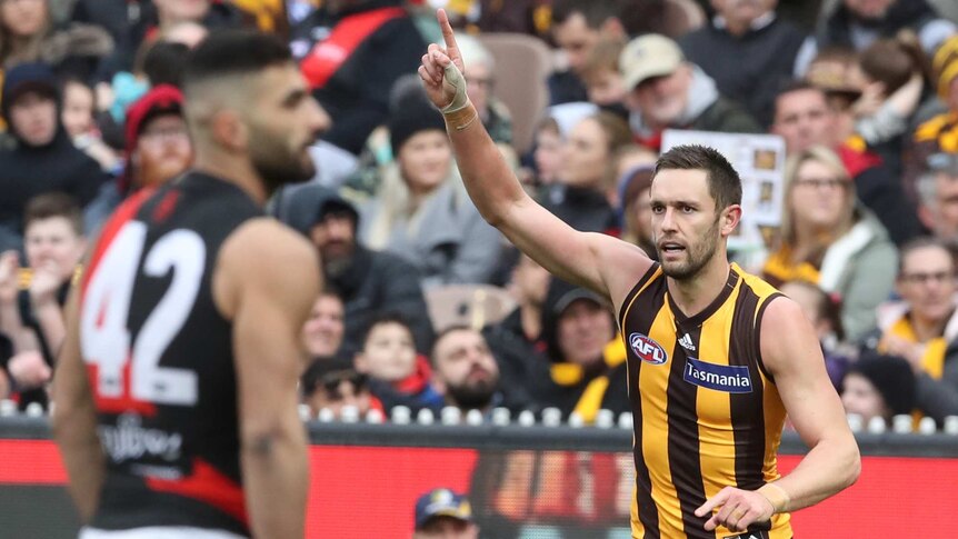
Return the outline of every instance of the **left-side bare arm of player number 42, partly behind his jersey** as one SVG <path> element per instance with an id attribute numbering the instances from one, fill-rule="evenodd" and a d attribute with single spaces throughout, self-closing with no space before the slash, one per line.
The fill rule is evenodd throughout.
<path id="1" fill-rule="evenodd" d="M 97 437 L 97 409 L 80 356 L 80 288 L 67 302 L 67 335 L 53 377 L 53 439 L 70 478 L 68 487 L 83 521 L 97 510 L 103 485 L 104 458 Z"/>

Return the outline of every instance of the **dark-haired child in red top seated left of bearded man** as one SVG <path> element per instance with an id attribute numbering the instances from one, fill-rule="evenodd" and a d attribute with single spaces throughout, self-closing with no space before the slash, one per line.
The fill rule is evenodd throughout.
<path id="1" fill-rule="evenodd" d="M 442 407 L 442 396 L 431 383 L 429 362 L 416 353 L 412 330 L 401 317 L 375 319 L 353 361 L 358 372 L 369 376 L 372 395 L 387 410 L 396 406 L 413 410 Z"/>

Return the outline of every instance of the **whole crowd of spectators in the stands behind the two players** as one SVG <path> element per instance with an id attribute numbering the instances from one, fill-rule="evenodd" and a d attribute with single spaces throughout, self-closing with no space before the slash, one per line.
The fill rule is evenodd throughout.
<path id="1" fill-rule="evenodd" d="M 666 130 L 781 137 L 781 222 L 740 263 L 802 306 L 849 412 L 958 416 L 945 0 L 0 0 L 0 398 L 48 406 L 88 240 L 189 169 L 184 58 L 246 27 L 288 40 L 327 114 L 317 177 L 267 208 L 322 258 L 302 329 L 311 413 L 629 411 L 612 307 L 519 254 L 466 192 L 416 74 L 437 7 L 482 124 L 577 230 L 655 258 Z M 500 92 L 511 79 L 517 96 Z"/>

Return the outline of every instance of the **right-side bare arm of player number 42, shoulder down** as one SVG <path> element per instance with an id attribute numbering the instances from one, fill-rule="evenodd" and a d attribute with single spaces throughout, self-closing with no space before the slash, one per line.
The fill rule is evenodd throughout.
<path id="1" fill-rule="evenodd" d="M 220 252 L 213 296 L 233 323 L 240 465 L 256 537 L 303 536 L 309 465 L 297 413 L 299 335 L 319 288 L 316 251 L 277 221 L 250 221 Z"/>

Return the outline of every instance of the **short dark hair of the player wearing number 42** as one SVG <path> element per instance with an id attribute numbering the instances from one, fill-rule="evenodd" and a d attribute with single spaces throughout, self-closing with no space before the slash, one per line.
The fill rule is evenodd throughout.
<path id="1" fill-rule="evenodd" d="M 278 37 L 255 30 L 211 33 L 187 58 L 183 90 L 221 77 L 248 74 L 292 62 L 289 47 Z M 189 96 L 188 96 L 189 98 Z"/>

